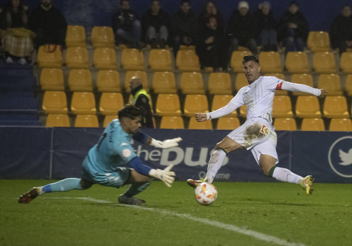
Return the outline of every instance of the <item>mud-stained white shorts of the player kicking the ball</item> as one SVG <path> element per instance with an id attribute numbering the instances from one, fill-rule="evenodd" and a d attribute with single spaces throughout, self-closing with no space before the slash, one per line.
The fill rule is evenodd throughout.
<path id="1" fill-rule="evenodd" d="M 247 150 L 251 150 L 259 164 L 260 155 L 270 155 L 279 162 L 276 152 L 277 136 L 274 127 L 263 118 L 250 118 L 237 129 L 230 132 L 230 137 Z"/>

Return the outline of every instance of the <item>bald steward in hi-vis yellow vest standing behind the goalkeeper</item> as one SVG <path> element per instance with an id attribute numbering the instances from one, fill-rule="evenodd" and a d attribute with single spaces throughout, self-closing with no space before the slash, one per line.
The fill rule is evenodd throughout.
<path id="1" fill-rule="evenodd" d="M 133 96 L 131 104 L 140 108 L 144 113 L 142 127 L 154 128 L 152 102 L 149 94 L 143 89 L 142 80 L 133 76 L 130 81 L 130 89 Z"/>

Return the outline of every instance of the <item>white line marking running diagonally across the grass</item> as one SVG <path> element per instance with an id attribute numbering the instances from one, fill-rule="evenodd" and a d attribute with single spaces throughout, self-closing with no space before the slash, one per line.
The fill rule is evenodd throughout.
<path id="1" fill-rule="evenodd" d="M 79 200 L 86 200 L 86 201 L 92 201 L 92 202 L 98 202 L 98 203 L 113 203 L 110 201 L 106 201 L 106 200 L 98 200 L 98 199 L 94 199 L 94 198 L 87 198 L 87 197 L 81 197 L 81 198 L 49 198 L 49 199 L 79 199 Z M 196 222 L 200 222 L 203 224 L 207 224 L 210 226 L 215 226 L 218 228 L 222 228 L 222 229 L 226 229 L 229 231 L 233 231 L 233 232 L 237 232 L 237 233 L 241 233 L 244 235 L 248 235 L 251 236 L 253 238 L 259 239 L 259 240 L 263 240 L 266 242 L 272 242 L 274 244 L 277 245 L 282 245 L 282 246 L 306 246 L 304 244 L 300 244 L 300 243 L 295 243 L 295 242 L 288 242 L 287 240 L 283 240 L 274 236 L 270 236 L 270 235 L 266 235 L 260 232 L 256 232 L 256 231 L 252 231 L 249 229 L 244 229 L 244 228 L 240 228 L 238 226 L 234 226 L 231 224 L 225 224 L 219 221 L 215 221 L 215 220 L 208 220 L 208 219 L 203 219 L 203 218 L 197 218 L 194 216 L 191 216 L 190 214 L 179 214 L 176 212 L 172 212 L 172 211 L 168 211 L 168 210 L 164 210 L 164 209 L 158 209 L 158 208 L 147 208 L 147 207 L 143 207 L 143 206 L 135 206 L 135 205 L 126 205 L 126 204 L 116 204 L 117 206 L 125 206 L 125 207 L 130 207 L 130 208 L 134 208 L 134 209 L 139 209 L 139 210 L 147 210 L 147 211 L 151 211 L 151 212 L 155 212 L 155 213 L 159 213 L 159 214 L 165 214 L 165 215 L 171 215 L 171 216 L 176 216 L 178 218 L 181 219 L 188 219 L 188 220 L 192 220 L 192 221 L 196 221 Z"/>

